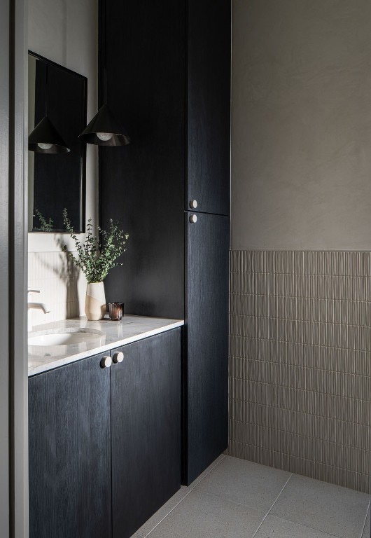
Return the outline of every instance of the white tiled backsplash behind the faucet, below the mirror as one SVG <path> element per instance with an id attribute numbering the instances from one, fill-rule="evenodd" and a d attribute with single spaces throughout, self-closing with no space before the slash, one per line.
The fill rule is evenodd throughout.
<path id="1" fill-rule="evenodd" d="M 65 252 L 29 252 L 28 287 L 40 290 L 39 294 L 29 294 L 29 302 L 45 303 L 50 308 L 48 314 L 32 309 L 32 325 L 83 314 L 86 280 Z"/>

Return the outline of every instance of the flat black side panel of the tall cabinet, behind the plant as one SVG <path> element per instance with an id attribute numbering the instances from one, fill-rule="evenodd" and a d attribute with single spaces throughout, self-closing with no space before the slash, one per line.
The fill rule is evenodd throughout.
<path id="1" fill-rule="evenodd" d="M 102 148 L 102 226 L 130 234 L 107 301 L 137 315 L 183 318 L 185 6 L 106 2 L 107 100 L 132 138 Z"/>

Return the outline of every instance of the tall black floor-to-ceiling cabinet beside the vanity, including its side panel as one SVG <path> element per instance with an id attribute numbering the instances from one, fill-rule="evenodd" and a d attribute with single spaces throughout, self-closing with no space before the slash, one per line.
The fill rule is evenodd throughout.
<path id="1" fill-rule="evenodd" d="M 100 4 L 101 95 L 132 137 L 99 153 L 102 226 L 130 234 L 107 301 L 184 318 L 183 483 L 228 443 L 230 1 Z"/>

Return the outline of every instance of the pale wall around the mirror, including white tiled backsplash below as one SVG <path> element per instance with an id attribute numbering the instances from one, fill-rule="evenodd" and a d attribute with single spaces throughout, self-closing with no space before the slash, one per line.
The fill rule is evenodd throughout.
<path id="1" fill-rule="evenodd" d="M 98 2 L 97 0 L 29 0 L 28 48 L 87 77 L 87 121 L 97 112 Z M 87 144 L 86 216 L 97 222 L 98 152 Z M 48 303 L 50 313 L 31 311 L 32 324 L 83 314 L 85 279 L 67 268 L 57 246 L 58 236 L 29 233 L 29 288 L 41 289 L 31 296 Z M 69 248 L 73 243 L 63 236 Z M 48 253 L 48 254 L 45 254 Z"/>

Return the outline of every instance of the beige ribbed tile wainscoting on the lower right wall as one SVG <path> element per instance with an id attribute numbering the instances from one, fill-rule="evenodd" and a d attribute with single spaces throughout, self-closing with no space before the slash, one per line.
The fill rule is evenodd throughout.
<path id="1" fill-rule="evenodd" d="M 230 446 L 371 492 L 371 253 L 231 251 Z"/>

